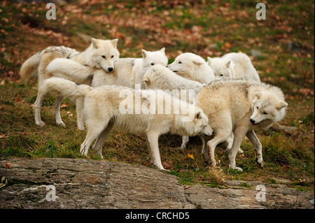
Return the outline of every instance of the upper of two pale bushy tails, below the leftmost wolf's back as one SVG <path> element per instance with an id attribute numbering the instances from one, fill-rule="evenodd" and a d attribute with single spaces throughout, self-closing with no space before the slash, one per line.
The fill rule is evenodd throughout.
<path id="1" fill-rule="evenodd" d="M 75 82 L 84 82 L 90 75 L 93 75 L 95 69 L 85 66 L 71 59 L 56 58 L 47 66 L 47 71 L 53 73 L 59 78 L 66 78 Z"/>

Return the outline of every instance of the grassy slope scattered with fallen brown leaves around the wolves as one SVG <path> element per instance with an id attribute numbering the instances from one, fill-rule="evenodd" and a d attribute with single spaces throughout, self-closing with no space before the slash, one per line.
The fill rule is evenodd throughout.
<path id="1" fill-rule="evenodd" d="M 45 100 L 41 115 L 45 127 L 34 123 L 32 105 L 37 81 L 20 82 L 19 69 L 28 57 L 48 45 L 84 50 L 94 38 L 119 38 L 121 57 L 141 57 L 141 49 L 166 48 L 169 62 L 181 52 L 204 58 L 242 51 L 250 55 L 261 80 L 281 87 L 288 112 L 281 125 L 295 131 L 272 128 L 258 131 L 265 161 L 255 165 L 253 145 L 244 140 L 237 164 L 244 172 L 228 168 L 223 148 L 216 150 L 221 169 L 209 170 L 202 161 L 201 142 L 190 139 L 186 152 L 176 150 L 180 136 L 160 137 L 163 165 L 181 183 L 224 185 L 225 180 L 286 182 L 296 189 L 314 190 L 314 2 L 266 2 L 266 20 L 256 20 L 254 1 L 71 1 L 56 6 L 56 20 L 46 20 L 45 4 L 0 3 L 0 156 L 71 157 L 78 152 L 85 131 L 76 128 L 71 101 L 61 110 L 66 127 L 57 127 L 52 105 Z M 299 50 L 290 50 L 295 42 Z M 104 159 L 151 166 L 142 136 L 114 128 L 103 146 Z M 189 155 L 188 155 L 189 154 Z M 193 158 L 192 156 L 193 155 Z M 91 154 L 87 159 L 97 159 Z M 152 167 L 152 166 L 151 166 Z"/>

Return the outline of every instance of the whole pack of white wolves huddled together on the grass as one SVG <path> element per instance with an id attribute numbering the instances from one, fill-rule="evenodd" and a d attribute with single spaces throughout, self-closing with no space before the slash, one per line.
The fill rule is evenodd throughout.
<path id="1" fill-rule="evenodd" d="M 186 150 L 190 136 L 200 136 L 202 157 L 211 167 L 216 166 L 217 145 L 226 141 L 230 168 L 239 171 L 235 157 L 243 152 L 240 146 L 246 136 L 253 143 L 258 166 L 263 166 L 255 130 L 281 121 L 288 103 L 279 87 L 260 81 L 245 53 L 207 57 L 206 62 L 184 52 L 168 64 L 165 48 L 141 50 L 140 58 L 120 58 L 117 43 L 118 39 L 92 38 L 83 52 L 50 46 L 22 64 L 21 80 L 38 75 L 34 118 L 39 127 L 45 125 L 41 120 L 45 96 L 53 94 L 56 124 L 61 127 L 65 126 L 62 101 L 76 103 L 77 127 L 87 130 L 81 154 L 87 155 L 94 143 L 92 152 L 103 157 L 102 145 L 117 126 L 145 136 L 151 162 L 162 170 L 158 139 L 167 133 L 182 136 L 179 150 Z M 129 112 L 122 110 L 126 106 Z"/>

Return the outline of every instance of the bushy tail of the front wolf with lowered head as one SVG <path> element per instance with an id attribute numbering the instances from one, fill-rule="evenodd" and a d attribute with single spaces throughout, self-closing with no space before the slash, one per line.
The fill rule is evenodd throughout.
<path id="1" fill-rule="evenodd" d="M 93 87 L 88 85 L 78 85 L 71 80 L 64 78 L 48 78 L 39 86 L 39 90 L 49 93 L 65 96 L 68 99 L 77 99 L 80 96 L 85 96 Z"/>

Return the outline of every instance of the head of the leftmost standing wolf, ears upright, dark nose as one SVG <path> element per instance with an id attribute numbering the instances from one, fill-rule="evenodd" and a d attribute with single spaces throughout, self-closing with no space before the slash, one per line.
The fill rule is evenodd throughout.
<path id="1" fill-rule="evenodd" d="M 117 50 L 118 39 L 101 40 L 92 38 L 90 45 L 90 65 L 97 69 L 104 69 L 106 72 L 114 70 L 114 62 L 119 58 Z"/>

